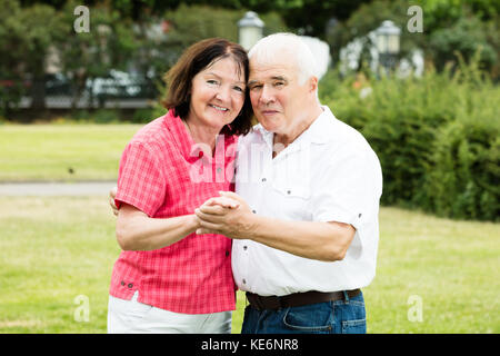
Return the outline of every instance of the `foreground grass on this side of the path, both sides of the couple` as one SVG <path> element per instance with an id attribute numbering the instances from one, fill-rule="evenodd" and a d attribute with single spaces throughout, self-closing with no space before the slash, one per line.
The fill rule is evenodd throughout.
<path id="1" fill-rule="evenodd" d="M 369 333 L 500 333 L 500 225 L 382 208 L 379 265 L 363 290 Z M 107 197 L 0 197 L 0 333 L 106 333 L 119 255 Z M 77 322 L 76 297 L 90 320 Z M 422 322 L 410 322 L 410 296 Z M 238 294 L 233 333 L 244 298 Z"/>

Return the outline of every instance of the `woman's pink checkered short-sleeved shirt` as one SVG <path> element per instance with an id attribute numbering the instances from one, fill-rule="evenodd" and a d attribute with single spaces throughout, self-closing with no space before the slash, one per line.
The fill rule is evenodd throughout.
<path id="1" fill-rule="evenodd" d="M 193 214 L 219 190 L 234 190 L 237 137 L 218 140 L 214 157 L 202 155 L 170 110 L 142 129 L 120 160 L 117 206 L 126 202 L 152 218 Z M 199 175 L 200 172 L 204 174 Z M 114 264 L 110 295 L 184 314 L 233 310 L 236 285 L 231 240 L 191 234 L 151 251 L 122 251 Z"/>

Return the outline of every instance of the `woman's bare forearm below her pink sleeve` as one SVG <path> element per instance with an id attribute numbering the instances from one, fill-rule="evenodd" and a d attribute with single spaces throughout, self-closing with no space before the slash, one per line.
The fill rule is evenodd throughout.
<path id="1" fill-rule="evenodd" d="M 123 250 L 153 250 L 172 245 L 199 227 L 194 215 L 156 219 L 133 214 L 117 220 L 117 240 Z"/>

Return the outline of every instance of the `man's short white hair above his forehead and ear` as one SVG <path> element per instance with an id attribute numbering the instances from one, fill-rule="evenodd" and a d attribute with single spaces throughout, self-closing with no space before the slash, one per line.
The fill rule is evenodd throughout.
<path id="1" fill-rule="evenodd" d="M 299 36 L 289 32 L 279 32 L 260 39 L 248 52 L 251 59 L 257 56 L 259 60 L 271 61 L 277 53 L 286 53 L 296 60 L 299 70 L 299 83 L 303 85 L 311 77 L 318 78 L 318 65 L 311 50 Z"/>

